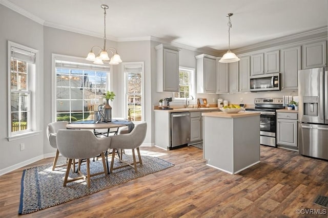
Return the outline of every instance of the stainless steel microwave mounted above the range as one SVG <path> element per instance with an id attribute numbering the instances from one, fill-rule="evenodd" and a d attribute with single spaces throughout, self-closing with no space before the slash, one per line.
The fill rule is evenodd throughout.
<path id="1" fill-rule="evenodd" d="M 280 73 L 251 76 L 251 92 L 280 90 Z"/>

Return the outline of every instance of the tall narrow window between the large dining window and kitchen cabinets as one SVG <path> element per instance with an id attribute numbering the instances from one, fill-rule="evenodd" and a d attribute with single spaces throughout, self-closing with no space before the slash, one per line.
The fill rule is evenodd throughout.
<path id="1" fill-rule="evenodd" d="M 144 120 L 144 62 L 122 63 L 125 75 L 125 117 Z"/>

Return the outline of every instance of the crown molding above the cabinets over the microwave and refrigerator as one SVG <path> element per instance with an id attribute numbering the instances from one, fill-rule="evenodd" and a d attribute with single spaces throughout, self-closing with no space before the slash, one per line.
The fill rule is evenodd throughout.
<path id="1" fill-rule="evenodd" d="M 312 29 L 312 30 L 308 30 L 308 31 L 304 31 L 304 32 L 296 33 L 296 34 L 291 34 L 288 36 L 282 36 L 282 37 L 275 38 L 272 40 L 259 42 L 254 45 L 241 47 L 238 49 L 234 49 L 233 52 L 237 53 L 237 54 L 242 54 L 245 52 L 262 49 L 265 47 L 273 47 L 274 45 L 278 45 L 279 43 L 286 43 L 286 42 L 293 41 L 293 40 L 294 41 L 302 40 L 303 38 L 310 37 L 310 36 L 312 39 L 314 39 L 313 37 L 316 37 L 316 36 L 318 36 L 318 37 L 321 37 L 322 35 L 327 36 L 327 32 L 328 32 L 328 29 L 327 29 L 327 26 L 325 26 L 325 27 L 321 27 L 318 29 Z"/>

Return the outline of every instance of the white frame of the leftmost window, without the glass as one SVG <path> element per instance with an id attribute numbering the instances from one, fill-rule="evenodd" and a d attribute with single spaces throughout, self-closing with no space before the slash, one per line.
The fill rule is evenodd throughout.
<path id="1" fill-rule="evenodd" d="M 21 130 L 18 132 L 11 132 L 11 128 L 12 128 L 12 120 L 11 120 L 11 94 L 12 94 L 12 90 L 11 90 L 11 50 L 12 48 L 17 48 L 20 50 L 25 50 L 27 52 L 31 52 L 35 54 L 35 61 L 34 63 L 30 63 L 31 67 L 30 70 L 28 70 L 28 74 L 27 74 L 27 86 L 28 89 L 26 91 L 23 92 L 18 92 L 17 93 L 28 93 L 29 95 L 29 102 L 28 102 L 28 113 L 27 113 L 27 122 L 29 124 L 29 128 L 26 130 Z M 17 58 L 17 60 L 19 60 Z M 7 80 L 7 84 L 8 84 L 8 141 L 12 141 L 12 140 L 16 140 L 16 139 L 22 139 L 28 136 L 34 136 L 34 135 L 38 135 L 40 133 L 40 125 L 39 125 L 39 114 L 40 114 L 40 110 L 39 110 L 39 51 L 24 45 L 20 45 L 19 43 L 13 42 L 8 40 L 8 59 L 7 59 L 7 75 L 8 75 L 8 80 Z M 22 60 L 20 60 L 22 61 Z M 30 65 L 29 64 L 29 65 Z M 15 92 L 14 92 L 15 93 Z"/>

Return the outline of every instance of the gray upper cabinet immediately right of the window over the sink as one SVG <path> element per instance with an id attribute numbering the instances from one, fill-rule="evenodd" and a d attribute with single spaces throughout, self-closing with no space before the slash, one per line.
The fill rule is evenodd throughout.
<path id="1" fill-rule="evenodd" d="M 196 56 L 196 92 L 216 93 L 216 57 Z"/>

